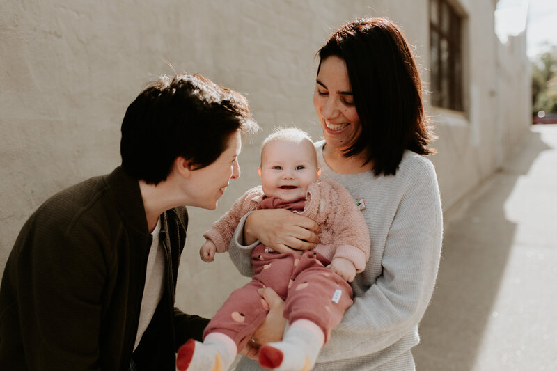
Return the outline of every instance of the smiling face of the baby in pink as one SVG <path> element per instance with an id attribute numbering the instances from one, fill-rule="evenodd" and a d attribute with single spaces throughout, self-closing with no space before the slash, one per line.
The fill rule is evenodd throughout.
<path id="1" fill-rule="evenodd" d="M 308 186 L 319 178 L 313 143 L 276 140 L 265 145 L 261 153 L 259 175 L 263 193 L 291 201 L 305 197 Z"/>

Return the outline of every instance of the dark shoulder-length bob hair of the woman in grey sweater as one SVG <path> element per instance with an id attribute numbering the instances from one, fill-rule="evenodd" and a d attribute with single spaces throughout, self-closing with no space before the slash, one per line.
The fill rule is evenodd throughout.
<path id="1" fill-rule="evenodd" d="M 329 56 L 346 63 L 362 125 L 359 139 L 345 150 L 346 157 L 364 152 L 375 175 L 395 175 L 405 150 L 420 155 L 435 152 L 428 148 L 435 136 L 423 110 L 418 66 L 394 22 L 376 17 L 343 24 L 317 55 L 319 68 Z"/>

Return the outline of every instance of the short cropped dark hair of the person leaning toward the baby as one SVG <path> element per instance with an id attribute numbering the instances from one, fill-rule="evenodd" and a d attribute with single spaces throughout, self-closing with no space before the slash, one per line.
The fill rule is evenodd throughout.
<path id="1" fill-rule="evenodd" d="M 203 168 L 226 150 L 231 134 L 258 128 L 240 93 L 201 74 L 163 75 L 127 107 L 122 167 L 137 180 L 158 184 L 178 157 Z"/>

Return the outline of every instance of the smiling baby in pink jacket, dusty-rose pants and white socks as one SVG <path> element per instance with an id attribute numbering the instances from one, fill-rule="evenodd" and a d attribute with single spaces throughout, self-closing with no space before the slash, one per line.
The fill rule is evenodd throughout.
<path id="1" fill-rule="evenodd" d="M 230 294 L 207 325 L 203 343 L 190 339 L 180 347 L 180 371 L 228 370 L 268 313 L 257 291 L 262 287 L 272 287 L 285 300 L 290 323 L 281 342 L 260 347 L 260 365 L 273 370 L 311 370 L 331 329 L 352 305 L 348 282 L 363 271 L 370 249 L 354 198 L 336 182 L 317 182 L 315 147 L 299 129 L 280 129 L 265 139 L 258 172 L 261 186 L 246 191 L 203 235 L 201 258 L 211 262 L 215 253 L 225 252 L 242 216 L 256 209 L 285 208 L 308 216 L 321 227 L 320 243 L 301 255 L 262 244 L 254 248 L 252 281 Z"/>

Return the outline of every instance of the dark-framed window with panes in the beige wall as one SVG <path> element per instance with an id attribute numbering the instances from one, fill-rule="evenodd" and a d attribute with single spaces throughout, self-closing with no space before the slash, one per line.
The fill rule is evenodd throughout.
<path id="1" fill-rule="evenodd" d="M 429 11 L 432 105 L 464 111 L 464 17 L 448 0 L 430 0 Z"/>

